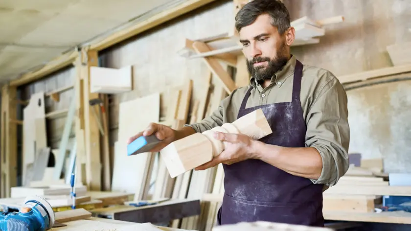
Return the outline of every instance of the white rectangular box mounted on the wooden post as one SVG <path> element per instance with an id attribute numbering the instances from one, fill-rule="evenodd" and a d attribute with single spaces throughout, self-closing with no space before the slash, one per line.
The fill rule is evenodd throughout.
<path id="1" fill-rule="evenodd" d="M 91 67 L 90 92 L 117 94 L 132 90 L 132 66 L 120 69 Z"/>

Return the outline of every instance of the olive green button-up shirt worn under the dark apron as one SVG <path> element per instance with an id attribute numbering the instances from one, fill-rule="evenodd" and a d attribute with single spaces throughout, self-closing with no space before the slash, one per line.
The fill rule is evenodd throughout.
<path id="1" fill-rule="evenodd" d="M 293 55 L 278 70 L 271 84 L 263 89 L 251 77 L 250 85 L 234 90 L 222 100 L 219 108 L 201 122 L 190 126 L 196 132 L 204 132 L 226 122 L 233 122 L 249 88 L 252 88 L 246 107 L 254 107 L 292 100 L 294 68 Z M 300 100 L 307 125 L 305 146 L 316 148 L 322 158 L 322 171 L 314 184 L 335 185 L 348 169 L 349 126 L 347 95 L 339 80 L 328 70 L 303 65 Z M 325 188 L 328 188 L 325 186 Z"/>

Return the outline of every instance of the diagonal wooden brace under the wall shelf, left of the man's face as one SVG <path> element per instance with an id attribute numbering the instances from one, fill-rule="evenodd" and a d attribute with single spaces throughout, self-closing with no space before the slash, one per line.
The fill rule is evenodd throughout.
<path id="1" fill-rule="evenodd" d="M 210 51 L 208 46 L 202 42 L 194 42 L 193 47 L 197 53 Z M 236 89 L 236 86 L 228 72 L 223 69 L 216 58 L 204 57 L 204 61 L 206 62 L 206 65 L 211 70 L 211 72 L 213 72 L 213 74 L 218 76 L 218 78 L 221 80 L 227 93 L 231 94 L 231 92 Z"/>

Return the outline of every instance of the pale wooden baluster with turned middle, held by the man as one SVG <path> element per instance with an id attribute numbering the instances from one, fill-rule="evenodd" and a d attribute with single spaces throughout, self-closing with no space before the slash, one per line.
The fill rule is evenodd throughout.
<path id="1" fill-rule="evenodd" d="M 224 150 L 224 142 L 213 138 L 214 131 L 241 133 L 256 140 L 272 133 L 263 111 L 257 109 L 231 124 L 176 140 L 160 151 L 172 178 L 211 161 Z"/>

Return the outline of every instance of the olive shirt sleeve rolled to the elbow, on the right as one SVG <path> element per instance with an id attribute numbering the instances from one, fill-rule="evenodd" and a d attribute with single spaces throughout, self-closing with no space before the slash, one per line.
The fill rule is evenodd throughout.
<path id="1" fill-rule="evenodd" d="M 316 148 L 322 159 L 320 178 L 311 181 L 332 186 L 349 167 L 349 125 L 346 92 L 335 76 L 327 74 L 306 116 L 305 144 Z"/>

